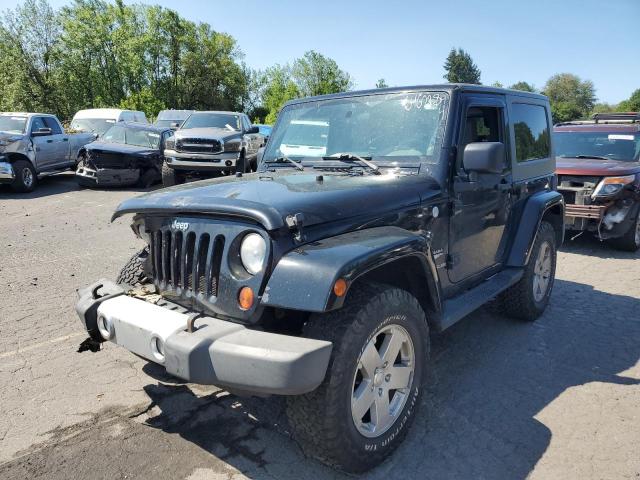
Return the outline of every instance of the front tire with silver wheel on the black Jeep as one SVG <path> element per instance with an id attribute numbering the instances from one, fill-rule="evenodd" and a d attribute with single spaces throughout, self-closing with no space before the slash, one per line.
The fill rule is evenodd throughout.
<path id="1" fill-rule="evenodd" d="M 361 473 L 396 449 L 416 416 L 429 328 L 415 297 L 391 286 L 356 286 L 345 305 L 305 325 L 306 337 L 333 351 L 322 384 L 288 397 L 287 415 L 305 454 Z"/>

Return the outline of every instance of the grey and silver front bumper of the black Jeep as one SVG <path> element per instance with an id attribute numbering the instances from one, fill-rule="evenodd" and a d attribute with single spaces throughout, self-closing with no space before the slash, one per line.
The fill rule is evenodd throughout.
<path id="1" fill-rule="evenodd" d="M 132 298 L 108 280 L 78 293 L 76 311 L 94 339 L 108 339 L 189 382 L 298 395 L 324 379 L 330 342 L 252 330 L 213 317 L 199 318 L 197 329 L 189 332 L 191 312 Z"/>

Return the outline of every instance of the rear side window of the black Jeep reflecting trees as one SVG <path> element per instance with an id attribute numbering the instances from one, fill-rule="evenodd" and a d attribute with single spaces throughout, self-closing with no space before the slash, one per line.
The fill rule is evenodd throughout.
<path id="1" fill-rule="evenodd" d="M 514 103 L 511 106 L 515 132 L 516 161 L 529 162 L 551 156 L 547 112 L 541 105 Z"/>

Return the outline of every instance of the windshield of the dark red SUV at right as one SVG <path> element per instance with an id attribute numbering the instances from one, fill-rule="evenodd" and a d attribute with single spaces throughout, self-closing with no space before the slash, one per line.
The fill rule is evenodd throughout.
<path id="1" fill-rule="evenodd" d="M 559 157 L 603 157 L 637 162 L 640 157 L 640 134 L 615 132 L 555 132 L 555 149 Z"/>

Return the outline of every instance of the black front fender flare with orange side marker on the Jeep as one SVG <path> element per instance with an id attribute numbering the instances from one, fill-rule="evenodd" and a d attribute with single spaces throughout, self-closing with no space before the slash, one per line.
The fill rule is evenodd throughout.
<path id="1" fill-rule="evenodd" d="M 431 276 L 429 255 L 425 236 L 391 226 L 311 242 L 280 259 L 267 282 L 262 305 L 307 312 L 335 310 L 347 296 L 333 292 L 338 279 L 345 279 L 350 287 L 363 274 L 407 256 L 421 257 L 425 274 Z"/>

